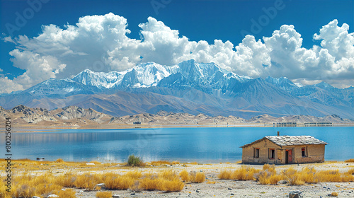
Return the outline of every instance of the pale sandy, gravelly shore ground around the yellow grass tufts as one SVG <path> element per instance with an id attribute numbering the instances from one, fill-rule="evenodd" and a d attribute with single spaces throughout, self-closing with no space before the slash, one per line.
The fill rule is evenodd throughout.
<path id="1" fill-rule="evenodd" d="M 47 164 L 46 164 L 47 163 Z M 49 163 L 49 165 L 48 165 Z M 329 197 L 332 192 L 338 192 L 338 197 L 354 197 L 354 182 L 322 182 L 305 185 L 260 185 L 256 181 L 242 180 L 220 180 L 217 175 L 222 170 L 235 170 L 241 168 L 240 163 L 213 163 L 213 164 L 174 164 L 174 165 L 148 165 L 144 168 L 130 168 L 121 164 L 101 164 L 101 165 L 55 165 L 55 162 L 43 162 L 38 167 L 43 169 L 32 171 L 33 174 L 51 173 L 61 174 L 67 171 L 75 173 L 118 173 L 124 174 L 132 170 L 144 173 L 159 173 L 163 170 L 172 170 L 180 173 L 182 170 L 196 171 L 205 173 L 206 181 L 202 183 L 185 183 L 181 192 L 161 192 L 161 191 L 142 191 L 133 192 L 132 190 L 99 190 L 109 191 L 119 194 L 120 197 L 288 197 L 291 191 L 301 191 L 304 197 Z M 252 168 L 262 169 L 263 165 L 249 165 Z M 325 162 L 314 164 L 294 164 L 276 165 L 278 173 L 287 168 L 302 170 L 304 167 L 319 170 L 339 170 L 345 173 L 354 168 L 354 163 L 345 162 Z M 46 169 L 47 168 L 47 169 Z M 24 169 L 23 169 L 24 170 Z M 23 171 L 21 166 L 16 171 Z M 4 176 L 1 173 L 1 176 Z M 96 197 L 97 190 L 86 191 L 76 189 L 76 197 Z"/>

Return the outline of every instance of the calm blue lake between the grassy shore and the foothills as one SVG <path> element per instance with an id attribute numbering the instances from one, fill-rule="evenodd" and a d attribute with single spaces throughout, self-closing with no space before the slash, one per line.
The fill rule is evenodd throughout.
<path id="1" fill-rule="evenodd" d="M 199 163 L 241 160 L 239 146 L 263 136 L 310 135 L 329 143 L 326 161 L 354 158 L 354 127 L 229 127 L 161 129 L 67 129 L 55 132 L 15 132 L 11 136 L 14 159 L 44 157 L 48 161 L 125 162 L 130 154 L 144 161 Z M 1 145 L 5 145 L 1 133 Z M 5 148 L 1 148 L 1 157 Z"/>

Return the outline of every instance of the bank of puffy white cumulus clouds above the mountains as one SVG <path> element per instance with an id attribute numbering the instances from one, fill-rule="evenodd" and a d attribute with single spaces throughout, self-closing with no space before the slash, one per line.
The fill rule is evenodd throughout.
<path id="1" fill-rule="evenodd" d="M 349 26 L 333 20 L 324 25 L 314 40 L 321 46 L 302 47 L 302 37 L 294 25 L 282 25 L 270 37 L 255 40 L 246 35 L 239 44 L 222 40 L 191 41 L 162 21 L 147 18 L 139 24 L 140 39 L 129 37 L 127 19 L 108 13 L 84 16 L 75 25 L 43 25 L 37 37 L 4 37 L 13 42 L 13 66 L 25 73 L 10 80 L 1 93 L 34 86 L 48 78 L 67 78 L 84 69 L 123 71 L 140 62 L 171 65 L 188 59 L 215 62 L 236 74 L 251 77 L 287 76 L 305 83 L 327 81 L 339 86 L 353 85 L 354 33 Z"/>

